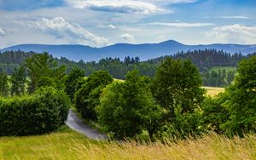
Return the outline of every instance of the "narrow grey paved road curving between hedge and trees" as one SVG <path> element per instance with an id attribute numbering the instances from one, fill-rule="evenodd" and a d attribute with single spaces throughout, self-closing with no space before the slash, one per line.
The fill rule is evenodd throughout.
<path id="1" fill-rule="evenodd" d="M 93 140 L 108 140 L 108 136 L 106 134 L 101 134 L 95 129 L 91 129 L 90 126 L 84 123 L 78 115 L 73 111 L 69 110 L 67 117 L 67 126 L 70 129 L 76 130 L 81 134 L 86 135 L 88 138 Z"/>

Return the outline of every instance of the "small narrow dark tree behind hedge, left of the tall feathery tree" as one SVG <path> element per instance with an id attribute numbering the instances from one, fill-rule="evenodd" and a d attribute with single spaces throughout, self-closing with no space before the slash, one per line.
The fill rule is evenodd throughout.
<path id="1" fill-rule="evenodd" d="M 26 91 L 26 69 L 24 66 L 20 66 L 19 69 L 15 68 L 15 72 L 10 77 L 11 94 L 21 95 Z"/>

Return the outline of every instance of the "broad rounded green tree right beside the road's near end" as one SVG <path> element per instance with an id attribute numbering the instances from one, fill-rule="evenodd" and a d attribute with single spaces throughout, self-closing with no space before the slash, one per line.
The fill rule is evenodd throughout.
<path id="1" fill-rule="evenodd" d="M 152 136 L 161 114 L 138 71 L 129 72 L 124 83 L 116 82 L 104 89 L 97 108 L 103 128 L 119 139 L 134 137 L 143 130 Z"/>

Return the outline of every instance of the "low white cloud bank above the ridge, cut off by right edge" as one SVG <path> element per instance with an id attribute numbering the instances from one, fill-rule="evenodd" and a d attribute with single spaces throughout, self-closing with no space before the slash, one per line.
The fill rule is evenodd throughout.
<path id="1" fill-rule="evenodd" d="M 221 43 L 256 43 L 256 26 L 235 24 L 215 27 L 207 32 L 207 37 Z"/>

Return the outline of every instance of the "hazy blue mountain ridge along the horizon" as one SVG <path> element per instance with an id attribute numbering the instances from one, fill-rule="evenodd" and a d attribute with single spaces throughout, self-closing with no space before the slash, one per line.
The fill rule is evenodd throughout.
<path id="1" fill-rule="evenodd" d="M 141 60 L 153 59 L 164 55 L 176 54 L 178 51 L 198 50 L 198 49 L 217 49 L 234 54 L 250 54 L 256 52 L 255 45 L 240 44 L 209 44 L 209 45 L 185 45 L 176 41 L 166 41 L 163 43 L 144 43 L 129 44 L 117 43 L 103 48 L 92 48 L 84 45 L 46 45 L 46 44 L 20 44 L 6 49 L 0 49 L 1 52 L 6 50 L 22 50 L 25 52 L 44 52 L 53 54 L 55 57 L 66 57 L 69 60 L 101 60 L 106 57 L 124 59 L 125 56 L 136 57 Z"/>

